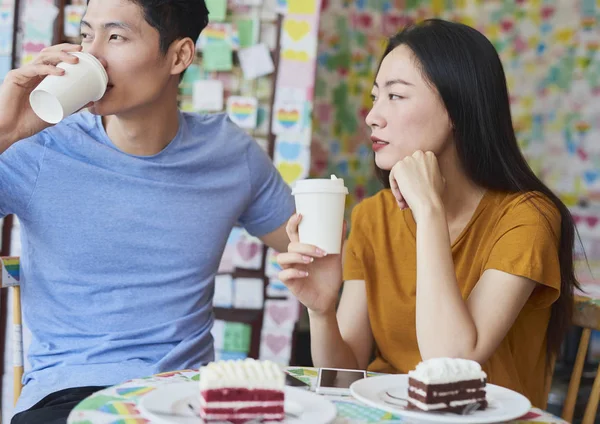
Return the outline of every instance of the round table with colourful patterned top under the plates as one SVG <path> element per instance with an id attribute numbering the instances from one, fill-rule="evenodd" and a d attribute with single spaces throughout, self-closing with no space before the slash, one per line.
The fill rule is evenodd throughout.
<path id="1" fill-rule="evenodd" d="M 317 379 L 315 368 L 291 367 L 288 372 L 314 387 Z M 198 381 L 197 370 L 184 370 L 157 374 L 151 377 L 131 380 L 109 387 L 84 399 L 69 415 L 68 424 L 146 424 L 137 408 L 141 398 L 161 384 L 182 381 Z M 354 423 L 414 423 L 379 409 L 364 406 L 351 397 L 329 396 L 337 407 L 335 424 Z M 532 409 L 515 423 L 565 423 L 547 412 Z"/>

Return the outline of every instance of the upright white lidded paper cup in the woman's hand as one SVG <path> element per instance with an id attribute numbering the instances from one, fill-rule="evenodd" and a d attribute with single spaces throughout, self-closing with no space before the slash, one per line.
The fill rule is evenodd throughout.
<path id="1" fill-rule="evenodd" d="M 340 253 L 348 194 L 344 180 L 299 180 L 292 194 L 296 212 L 302 215 L 298 227 L 300 243 L 317 246 L 328 254 Z"/>

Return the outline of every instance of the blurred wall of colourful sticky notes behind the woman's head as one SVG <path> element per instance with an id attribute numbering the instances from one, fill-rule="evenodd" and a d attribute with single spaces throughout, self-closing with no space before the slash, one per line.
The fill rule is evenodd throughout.
<path id="1" fill-rule="evenodd" d="M 335 173 L 344 178 L 350 189 L 348 213 L 380 189 L 364 122 L 372 104 L 375 71 L 387 37 L 433 17 L 474 26 L 496 47 L 504 64 L 519 144 L 533 170 L 572 208 L 595 278 L 600 279 L 600 4 L 596 0 L 324 3 L 312 175 Z"/>

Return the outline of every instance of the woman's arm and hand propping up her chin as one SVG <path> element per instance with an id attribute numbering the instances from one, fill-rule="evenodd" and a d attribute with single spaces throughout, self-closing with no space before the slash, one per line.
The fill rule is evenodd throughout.
<path id="1" fill-rule="evenodd" d="M 536 282 L 499 271 L 492 262 L 469 299 L 463 300 L 456 281 L 441 196 L 444 180 L 437 158 L 432 152 L 421 151 L 404 158 L 392 168 L 390 186 L 398 205 L 408 205 L 417 222 L 416 326 L 421 356 L 486 362 L 510 330 Z M 537 228 L 538 221 L 536 215 L 524 228 Z M 535 237 L 526 241 L 536 242 Z M 509 243 L 506 248 L 514 253 L 520 246 Z"/>

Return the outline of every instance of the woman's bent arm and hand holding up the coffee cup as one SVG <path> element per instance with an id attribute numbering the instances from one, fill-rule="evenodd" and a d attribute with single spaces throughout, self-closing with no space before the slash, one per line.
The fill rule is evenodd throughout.
<path id="1" fill-rule="evenodd" d="M 318 367 L 366 368 L 373 346 L 363 280 L 349 280 L 342 289 L 342 255 L 326 255 L 299 242 L 294 215 L 286 227 L 287 252 L 277 255 L 279 279 L 308 309 L 313 362 Z M 345 231 L 344 231 L 345 233 Z M 342 244 L 342 240 L 340 240 Z"/>

